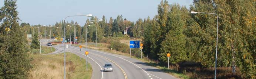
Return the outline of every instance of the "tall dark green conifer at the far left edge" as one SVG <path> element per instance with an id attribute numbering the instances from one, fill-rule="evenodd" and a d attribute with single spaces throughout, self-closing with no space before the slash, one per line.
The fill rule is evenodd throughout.
<path id="1" fill-rule="evenodd" d="M 16 0 L 4 0 L 0 9 L 0 79 L 27 79 L 31 68 L 24 30 L 18 24 Z"/>

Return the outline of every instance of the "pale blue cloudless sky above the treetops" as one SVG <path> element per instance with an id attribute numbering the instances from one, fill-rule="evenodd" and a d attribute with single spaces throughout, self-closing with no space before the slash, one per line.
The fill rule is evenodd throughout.
<path id="1" fill-rule="evenodd" d="M 4 0 L 0 0 L 0 7 Z M 192 0 L 168 0 L 169 4 L 178 3 L 187 8 Z M 137 21 L 139 18 L 150 18 L 157 14 L 157 7 L 160 0 L 17 0 L 19 17 L 22 22 L 37 25 L 55 24 L 68 15 L 92 14 L 99 18 L 105 15 L 109 18 L 116 18 L 122 15 L 130 21 Z M 87 17 L 71 17 L 67 21 L 77 21 L 85 24 Z M 21 23 L 21 22 L 20 22 Z"/>

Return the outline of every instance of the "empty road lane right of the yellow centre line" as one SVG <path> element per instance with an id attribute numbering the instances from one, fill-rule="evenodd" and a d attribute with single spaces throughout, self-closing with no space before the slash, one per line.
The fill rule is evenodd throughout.
<path id="1" fill-rule="evenodd" d="M 78 47 L 74 47 L 74 46 L 72 46 L 72 48 L 75 50 L 79 49 Z M 86 50 L 86 49 L 82 48 L 82 50 Z M 111 54 L 104 51 L 92 50 L 92 49 L 88 49 L 88 51 L 90 56 L 91 55 L 96 57 L 102 56 L 117 63 L 121 68 L 124 69 L 128 79 L 177 79 L 167 73 L 162 72 L 160 69 L 148 66 L 146 65 L 146 63 L 134 58 L 130 58 L 123 55 Z M 109 78 L 106 78 L 106 79 L 109 79 Z M 123 77 L 121 78 L 117 77 L 115 79 L 123 79 Z"/>

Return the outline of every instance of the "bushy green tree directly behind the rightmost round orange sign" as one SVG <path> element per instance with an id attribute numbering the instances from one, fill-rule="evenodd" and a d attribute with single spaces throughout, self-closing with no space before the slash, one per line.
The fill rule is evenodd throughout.
<path id="1" fill-rule="evenodd" d="M 186 25 L 186 16 L 188 16 L 188 10 L 185 7 L 181 7 L 176 4 L 172 4 L 172 8 L 168 14 L 166 23 L 166 33 L 164 41 L 161 42 L 160 56 L 161 61 L 166 61 L 166 54 L 171 54 L 171 63 L 177 64 L 178 62 L 185 61 L 188 57 L 186 54 L 185 43 L 186 36 L 183 34 L 183 30 Z M 185 11 L 182 11 L 185 9 Z"/>

